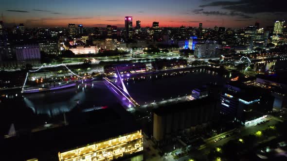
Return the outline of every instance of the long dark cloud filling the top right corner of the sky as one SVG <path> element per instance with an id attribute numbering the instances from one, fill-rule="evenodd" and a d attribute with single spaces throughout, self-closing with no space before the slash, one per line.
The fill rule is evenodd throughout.
<path id="1" fill-rule="evenodd" d="M 213 1 L 200 7 L 222 6 L 246 14 L 287 12 L 285 0 L 238 0 L 238 1 Z"/>

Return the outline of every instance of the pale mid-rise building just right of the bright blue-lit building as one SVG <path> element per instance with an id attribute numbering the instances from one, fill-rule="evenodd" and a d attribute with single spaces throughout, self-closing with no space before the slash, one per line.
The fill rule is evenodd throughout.
<path id="1" fill-rule="evenodd" d="M 194 55 L 197 58 L 211 58 L 216 56 L 216 49 L 219 45 L 216 41 L 205 41 L 195 45 Z"/>

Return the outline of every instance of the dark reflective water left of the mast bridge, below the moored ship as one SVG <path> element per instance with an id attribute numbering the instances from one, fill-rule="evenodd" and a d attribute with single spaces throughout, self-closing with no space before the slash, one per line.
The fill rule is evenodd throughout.
<path id="1" fill-rule="evenodd" d="M 7 97 L 13 101 L 16 94 L 7 94 Z M 23 102 L 18 100 L 18 104 L 24 104 L 33 113 L 49 116 L 69 112 L 76 106 L 88 109 L 117 103 L 117 98 L 110 93 L 103 81 L 83 83 L 72 88 L 51 92 L 17 94 L 17 97 L 23 97 Z"/>

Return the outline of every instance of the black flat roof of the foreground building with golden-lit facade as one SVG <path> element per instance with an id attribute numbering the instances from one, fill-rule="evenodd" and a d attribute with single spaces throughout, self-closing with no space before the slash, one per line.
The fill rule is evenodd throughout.
<path id="1" fill-rule="evenodd" d="M 68 113 L 68 126 L 33 133 L 26 132 L 4 139 L 3 154 L 10 160 L 31 158 L 40 161 L 57 160 L 58 152 L 87 146 L 140 129 L 130 113 L 121 106 L 117 108 Z"/>

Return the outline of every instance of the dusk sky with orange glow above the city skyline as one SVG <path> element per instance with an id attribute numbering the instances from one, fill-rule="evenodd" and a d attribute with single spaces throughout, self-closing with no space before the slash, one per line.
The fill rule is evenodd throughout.
<path id="1" fill-rule="evenodd" d="M 260 22 L 272 26 L 287 18 L 285 0 L 1 0 L 6 26 L 24 23 L 28 27 L 124 26 L 124 17 L 133 16 L 142 26 L 159 21 L 160 27 L 224 26 L 241 28 Z M 0 19 L 2 19 L 0 17 Z"/>

